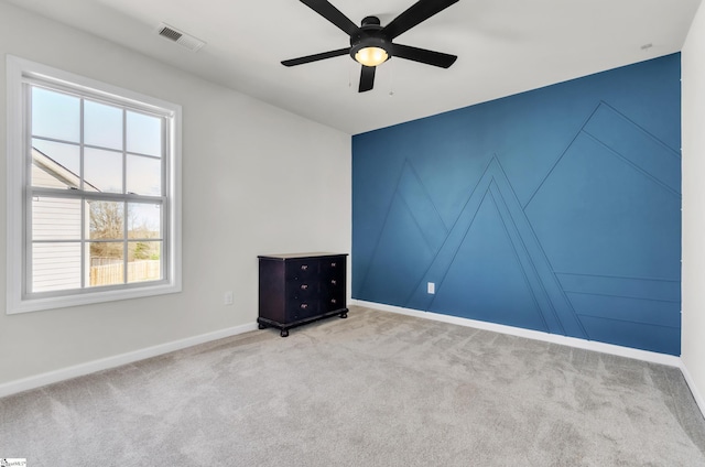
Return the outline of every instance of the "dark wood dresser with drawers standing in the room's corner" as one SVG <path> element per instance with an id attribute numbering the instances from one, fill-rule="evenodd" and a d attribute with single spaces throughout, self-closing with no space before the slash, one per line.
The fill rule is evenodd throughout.
<path id="1" fill-rule="evenodd" d="M 275 327 L 286 337 L 294 326 L 335 315 L 346 318 L 346 257 L 340 253 L 259 256 L 259 328 Z"/>

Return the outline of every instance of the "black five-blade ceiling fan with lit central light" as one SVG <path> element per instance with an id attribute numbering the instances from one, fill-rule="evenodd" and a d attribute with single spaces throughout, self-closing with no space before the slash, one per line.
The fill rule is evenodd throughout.
<path id="1" fill-rule="evenodd" d="M 302 3 L 348 34 L 350 36 L 350 46 L 338 48 L 337 51 L 285 59 L 282 62 L 282 65 L 303 65 L 305 63 L 349 54 L 356 62 L 362 65 L 358 88 L 359 93 L 372 89 L 377 66 L 393 56 L 447 68 L 455 63 L 457 59 L 456 55 L 395 44 L 392 43 L 392 41 L 457 1 L 458 0 L 419 0 L 392 20 L 391 23 L 382 28 L 377 17 L 367 17 L 362 20 L 361 25 L 357 26 L 327 0 L 301 0 Z"/>

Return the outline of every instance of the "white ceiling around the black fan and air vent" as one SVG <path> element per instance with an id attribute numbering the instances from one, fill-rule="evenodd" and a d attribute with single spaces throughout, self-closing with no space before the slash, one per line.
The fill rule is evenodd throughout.
<path id="1" fill-rule="evenodd" d="M 460 0 L 394 41 L 458 55 L 451 68 L 391 59 L 358 94 L 349 56 L 280 64 L 349 45 L 299 0 L 6 1 L 350 134 L 679 52 L 701 3 Z M 332 1 L 357 24 L 382 25 L 413 2 Z M 194 53 L 160 37 L 162 22 L 207 44 Z"/>

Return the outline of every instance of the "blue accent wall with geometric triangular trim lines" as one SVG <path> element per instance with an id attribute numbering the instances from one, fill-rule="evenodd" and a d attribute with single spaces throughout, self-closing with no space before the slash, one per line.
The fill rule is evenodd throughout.
<path id="1" fill-rule="evenodd" d="M 357 134 L 352 297 L 680 355 L 680 54 Z"/>

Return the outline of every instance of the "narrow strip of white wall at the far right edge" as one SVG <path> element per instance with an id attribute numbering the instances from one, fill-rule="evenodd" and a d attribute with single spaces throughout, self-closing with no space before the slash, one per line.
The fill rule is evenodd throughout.
<path id="1" fill-rule="evenodd" d="M 682 351 L 686 377 L 705 411 L 705 7 L 682 51 L 683 285 Z"/>

